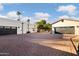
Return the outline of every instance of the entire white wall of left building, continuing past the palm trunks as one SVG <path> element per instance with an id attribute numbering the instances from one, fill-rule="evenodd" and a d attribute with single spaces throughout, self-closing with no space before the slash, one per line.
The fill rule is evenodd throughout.
<path id="1" fill-rule="evenodd" d="M 22 34 L 22 22 L 21 21 L 11 20 L 11 19 L 7 19 L 7 18 L 0 18 L 0 26 L 17 27 L 17 34 Z M 34 26 L 34 24 L 29 25 L 31 32 L 34 32 L 32 30 L 33 26 Z M 26 34 L 27 31 L 28 31 L 27 22 L 23 22 L 23 34 Z"/>

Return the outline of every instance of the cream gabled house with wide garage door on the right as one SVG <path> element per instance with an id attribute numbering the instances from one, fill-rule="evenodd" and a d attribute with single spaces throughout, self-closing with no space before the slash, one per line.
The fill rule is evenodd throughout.
<path id="1" fill-rule="evenodd" d="M 52 23 L 53 34 L 79 35 L 79 20 L 61 19 Z"/>

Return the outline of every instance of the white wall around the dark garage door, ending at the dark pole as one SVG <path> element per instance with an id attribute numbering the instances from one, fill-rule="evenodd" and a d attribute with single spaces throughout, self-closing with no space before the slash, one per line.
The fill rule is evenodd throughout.
<path id="1" fill-rule="evenodd" d="M 14 27 L 17 27 L 17 34 L 22 33 L 21 31 L 22 24 L 20 21 L 10 20 L 7 18 L 0 18 L 0 26 L 14 26 Z"/>

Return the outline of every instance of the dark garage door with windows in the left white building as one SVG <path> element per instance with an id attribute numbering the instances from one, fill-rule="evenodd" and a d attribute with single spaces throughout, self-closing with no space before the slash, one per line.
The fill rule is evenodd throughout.
<path id="1" fill-rule="evenodd" d="M 17 27 L 0 26 L 0 35 L 17 34 Z"/>

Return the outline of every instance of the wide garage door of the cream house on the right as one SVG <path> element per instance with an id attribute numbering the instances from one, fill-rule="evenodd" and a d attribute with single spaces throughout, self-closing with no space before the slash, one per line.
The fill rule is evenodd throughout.
<path id="1" fill-rule="evenodd" d="M 54 27 L 55 34 L 74 34 L 75 27 L 74 26 L 66 26 L 66 27 Z"/>

